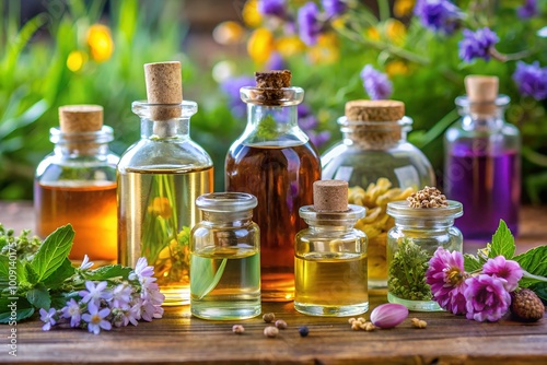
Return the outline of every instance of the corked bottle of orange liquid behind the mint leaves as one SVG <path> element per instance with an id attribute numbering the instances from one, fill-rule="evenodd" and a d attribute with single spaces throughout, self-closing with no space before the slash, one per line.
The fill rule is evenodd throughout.
<path id="1" fill-rule="evenodd" d="M 70 223 L 74 243 L 69 258 L 84 256 L 97 266 L 117 261 L 116 165 L 100 105 L 59 108 L 59 128 L 50 129 L 55 150 L 37 166 L 34 181 L 36 234 L 42 238 Z"/>

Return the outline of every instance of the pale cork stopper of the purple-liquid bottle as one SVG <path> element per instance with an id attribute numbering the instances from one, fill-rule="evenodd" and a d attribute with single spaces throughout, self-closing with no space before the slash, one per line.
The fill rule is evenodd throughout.
<path id="1" fill-rule="evenodd" d="M 464 79 L 464 83 L 472 111 L 491 114 L 496 110 L 494 102 L 499 90 L 497 76 L 470 74 Z"/>

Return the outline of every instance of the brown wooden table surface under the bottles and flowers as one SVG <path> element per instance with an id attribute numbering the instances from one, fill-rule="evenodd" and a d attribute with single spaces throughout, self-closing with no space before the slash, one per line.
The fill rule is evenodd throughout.
<path id="1" fill-rule="evenodd" d="M 547 244 L 547 209 L 525 208 L 519 251 Z M 0 222 L 16 229 L 32 227 L 27 203 L 1 203 Z M 474 244 L 465 249 L 473 251 Z M 371 293 L 371 309 L 386 302 Z M 18 356 L 8 355 L 10 327 L 0 327 L 0 362 L 10 364 L 547 364 L 547 318 L 522 323 L 511 318 L 476 322 L 447 313 L 411 313 L 397 328 L 352 331 L 346 318 L 307 317 L 291 303 L 264 303 L 289 327 L 276 339 L 265 338 L 261 318 L 241 321 L 245 333 L 232 333 L 234 321 L 206 321 L 189 308 L 166 307 L 164 318 L 114 329 L 100 335 L 83 330 L 42 331 L 39 321 L 16 326 Z M 369 314 L 363 317 L 369 318 Z M 415 329 L 410 318 L 428 322 Z M 310 335 L 301 338 L 299 326 Z"/>

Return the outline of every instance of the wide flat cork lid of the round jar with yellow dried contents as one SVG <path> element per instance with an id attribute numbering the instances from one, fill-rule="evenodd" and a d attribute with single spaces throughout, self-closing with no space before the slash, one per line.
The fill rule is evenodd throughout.
<path id="1" fill-rule="evenodd" d="M 352 121 L 394 121 L 405 116 L 405 103 L 398 101 L 351 101 L 346 118 Z"/>

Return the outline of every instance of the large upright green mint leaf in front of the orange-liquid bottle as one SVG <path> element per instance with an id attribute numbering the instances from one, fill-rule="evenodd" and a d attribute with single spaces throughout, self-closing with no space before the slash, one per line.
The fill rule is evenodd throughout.
<path id="1" fill-rule="evenodd" d="M 32 260 L 32 267 L 38 276 L 38 281 L 49 278 L 62 264 L 72 248 L 73 239 L 74 229 L 70 224 L 57 228 L 44 239 Z"/>

